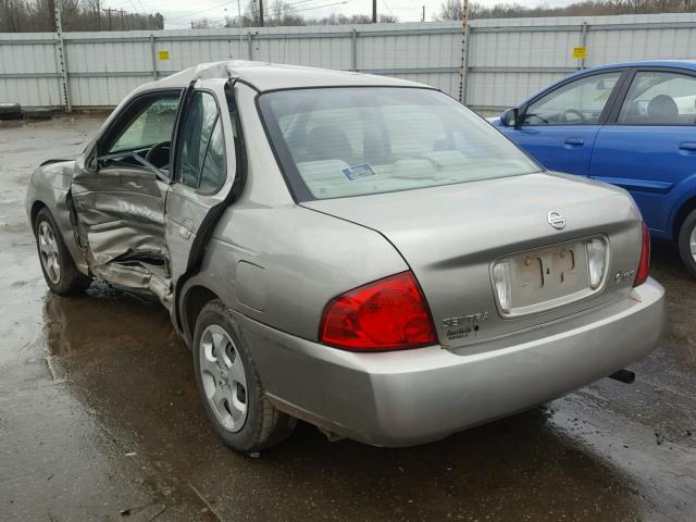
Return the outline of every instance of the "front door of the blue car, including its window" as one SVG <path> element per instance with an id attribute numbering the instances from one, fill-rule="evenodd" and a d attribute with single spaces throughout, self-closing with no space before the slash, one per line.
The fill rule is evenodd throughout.
<path id="1" fill-rule="evenodd" d="M 545 167 L 586 176 L 622 73 L 593 73 L 554 87 L 523 109 L 521 125 L 501 130 Z"/>

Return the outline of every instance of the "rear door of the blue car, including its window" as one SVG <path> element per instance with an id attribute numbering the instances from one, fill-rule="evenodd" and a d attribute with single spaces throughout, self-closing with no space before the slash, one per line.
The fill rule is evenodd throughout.
<path id="1" fill-rule="evenodd" d="M 696 191 L 696 75 L 635 70 L 597 135 L 591 176 L 626 188 L 657 235 L 673 209 Z"/>

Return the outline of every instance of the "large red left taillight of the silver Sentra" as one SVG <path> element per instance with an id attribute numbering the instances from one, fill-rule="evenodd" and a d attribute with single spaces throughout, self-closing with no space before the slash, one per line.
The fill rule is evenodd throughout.
<path id="1" fill-rule="evenodd" d="M 431 312 L 411 272 L 375 281 L 332 299 L 319 340 L 353 351 L 385 351 L 437 344 Z"/>

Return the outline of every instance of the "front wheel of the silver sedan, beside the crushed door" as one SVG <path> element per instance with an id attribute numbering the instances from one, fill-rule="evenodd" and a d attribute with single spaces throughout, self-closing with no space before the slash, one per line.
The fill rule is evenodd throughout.
<path id="1" fill-rule="evenodd" d="M 36 214 L 34 236 L 41 272 L 51 291 L 60 296 L 72 296 L 85 291 L 91 278 L 75 268 L 55 220 L 46 208 Z"/>

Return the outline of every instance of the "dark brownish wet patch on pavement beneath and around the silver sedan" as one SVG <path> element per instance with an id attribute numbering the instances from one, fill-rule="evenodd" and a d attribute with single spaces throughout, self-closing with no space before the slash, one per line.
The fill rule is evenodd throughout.
<path id="1" fill-rule="evenodd" d="M 89 294 L 44 299 L 53 372 L 100 426 L 95 446 L 110 438 L 100 451 L 135 462 L 156 501 L 199 508 L 204 499 L 223 520 L 287 520 L 288 513 L 294 520 L 320 513 L 625 520 L 637 513 L 629 481 L 563 435 L 545 409 L 417 448 L 331 444 L 302 425 L 260 459 L 236 455 L 208 425 L 190 352 L 166 312 L 103 283 Z"/>

